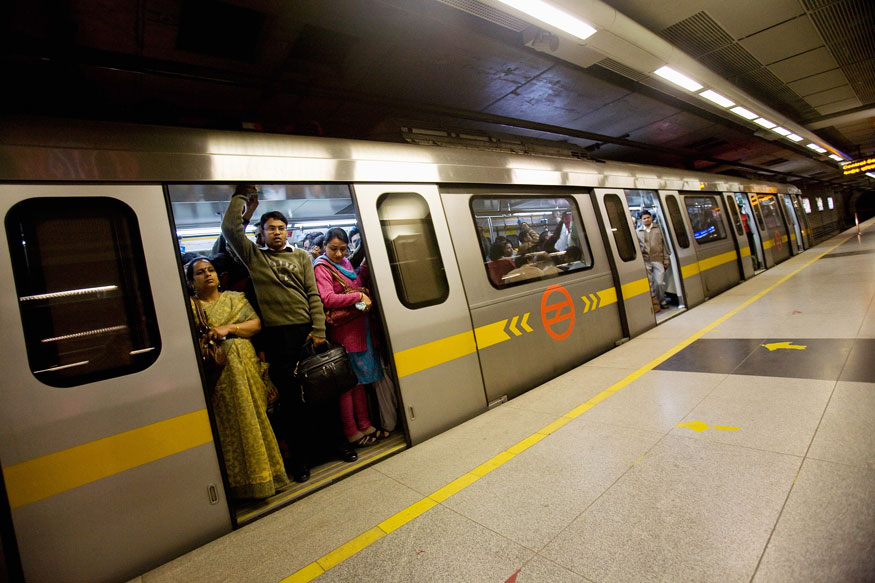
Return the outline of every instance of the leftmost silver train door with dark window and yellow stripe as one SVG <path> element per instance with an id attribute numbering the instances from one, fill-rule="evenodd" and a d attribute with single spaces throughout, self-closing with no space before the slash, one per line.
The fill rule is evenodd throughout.
<path id="1" fill-rule="evenodd" d="M 230 531 L 162 187 L 6 185 L 0 207 L 25 578 L 127 580 Z"/>

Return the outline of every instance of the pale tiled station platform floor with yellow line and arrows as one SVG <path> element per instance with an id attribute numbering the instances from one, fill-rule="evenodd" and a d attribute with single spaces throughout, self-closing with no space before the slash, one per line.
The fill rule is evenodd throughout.
<path id="1" fill-rule="evenodd" d="M 875 581 L 873 223 L 135 581 Z"/>

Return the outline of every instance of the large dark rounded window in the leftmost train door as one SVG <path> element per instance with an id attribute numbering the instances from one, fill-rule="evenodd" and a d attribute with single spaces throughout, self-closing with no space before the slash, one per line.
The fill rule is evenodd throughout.
<path id="1" fill-rule="evenodd" d="M 32 198 L 6 215 L 30 369 L 73 387 L 141 371 L 161 350 L 133 210 L 106 197 Z"/>

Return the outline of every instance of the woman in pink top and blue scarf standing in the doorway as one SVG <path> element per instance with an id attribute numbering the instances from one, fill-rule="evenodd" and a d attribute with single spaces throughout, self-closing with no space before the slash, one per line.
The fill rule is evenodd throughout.
<path id="1" fill-rule="evenodd" d="M 380 357 L 374 349 L 367 312 L 371 299 L 364 291 L 344 293 L 349 288 L 361 287 L 359 275 L 347 259 L 349 236 L 335 227 L 325 234 L 324 254 L 313 265 L 316 287 L 326 310 L 349 308 L 356 305 L 361 316 L 339 326 L 327 326 L 328 339 L 343 345 L 359 384 L 340 395 L 340 421 L 343 433 L 351 444 L 362 447 L 373 445 L 389 433 L 374 427 L 368 416 L 368 399 L 364 385 L 383 377 Z"/>

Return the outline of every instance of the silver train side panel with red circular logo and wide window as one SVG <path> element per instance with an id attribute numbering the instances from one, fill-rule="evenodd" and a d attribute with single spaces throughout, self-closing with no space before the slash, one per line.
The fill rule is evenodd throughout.
<path id="1" fill-rule="evenodd" d="M 624 337 L 588 194 L 442 188 L 441 198 L 490 404 L 546 382 Z"/>

